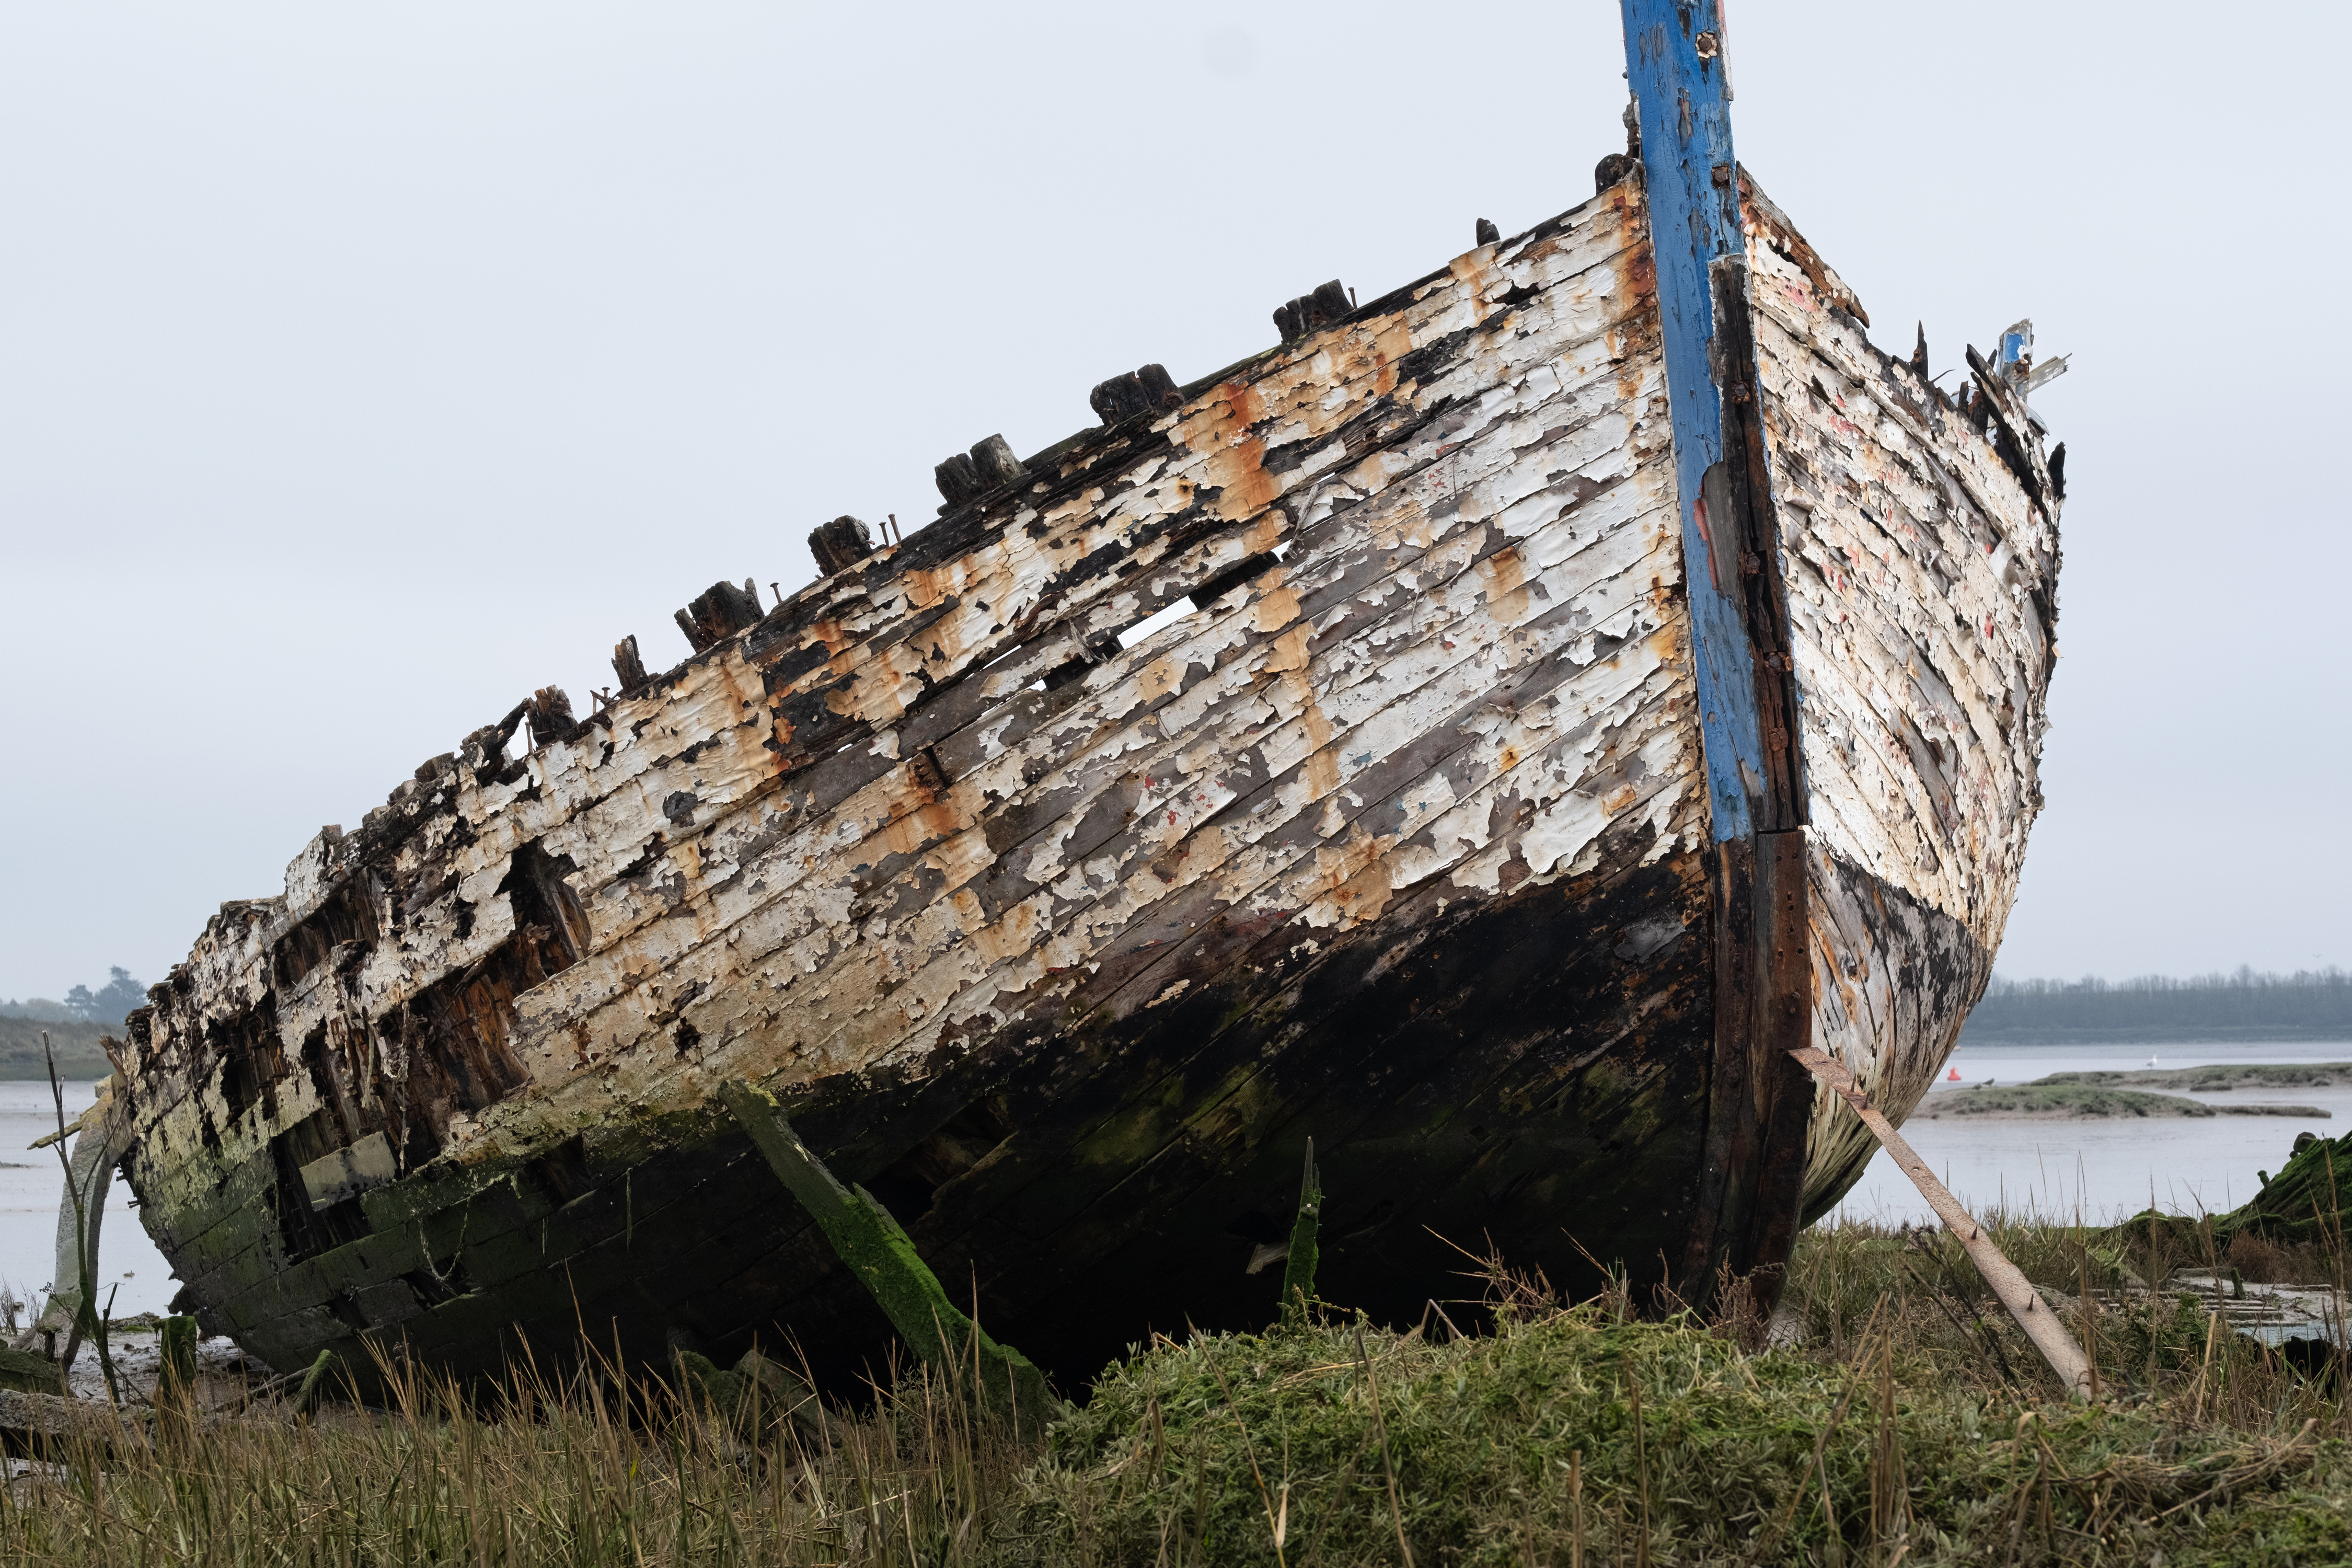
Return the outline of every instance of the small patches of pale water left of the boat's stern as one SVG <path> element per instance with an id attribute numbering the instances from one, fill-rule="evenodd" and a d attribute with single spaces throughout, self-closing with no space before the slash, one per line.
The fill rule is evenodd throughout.
<path id="1" fill-rule="evenodd" d="M 80 1114 L 94 1098 L 94 1084 L 66 1084 L 66 1117 Z M 52 1131 L 56 1103 L 47 1084 L 0 1081 L 0 1288 L 19 1302 L 40 1302 L 56 1272 L 56 1204 L 66 1194 L 66 1173 L 56 1150 L 26 1147 Z M 106 1302 L 106 1286 L 115 1288 L 115 1316 L 162 1312 L 179 1291 L 120 1178 L 106 1190 L 99 1281 L 99 1305 Z"/>

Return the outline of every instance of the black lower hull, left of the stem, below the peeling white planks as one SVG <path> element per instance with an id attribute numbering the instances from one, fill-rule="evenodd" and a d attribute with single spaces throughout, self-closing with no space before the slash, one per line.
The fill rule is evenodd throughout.
<path id="1" fill-rule="evenodd" d="M 1150 1331 L 1270 1321 L 1282 1272 L 1247 1265 L 1289 1232 L 1308 1138 L 1334 1302 L 1418 1319 L 1475 1293 L 1456 1248 L 1566 1288 L 1599 1284 L 1588 1255 L 1658 1281 L 1698 1194 L 1712 952 L 1703 858 L 1642 865 L 1646 835 L 1503 898 L 1404 893 L 1310 957 L 1296 926 L 1202 933 L 1171 961 L 1216 971 L 1171 1004 L 1037 1025 L 915 1088 L 844 1084 L 795 1124 L 1063 1387 Z M 522 1338 L 564 1356 L 583 1331 L 630 1359 L 790 1338 L 837 1385 L 877 1363 L 887 1321 L 741 1133 L 635 1152 L 569 1145 L 421 1215 L 437 1267 L 383 1246 L 412 1267 L 329 1309 L 459 1371 L 496 1371 Z M 416 1309 L 369 1324 L 386 1288 Z"/>

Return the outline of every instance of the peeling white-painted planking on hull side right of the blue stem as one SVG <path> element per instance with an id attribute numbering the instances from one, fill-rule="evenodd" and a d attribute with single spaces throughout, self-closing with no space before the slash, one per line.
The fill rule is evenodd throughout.
<path id="1" fill-rule="evenodd" d="M 1867 395 L 1856 376 L 1867 357 L 1900 383 L 1907 364 L 1762 247 L 1759 277 L 1773 454 L 1806 501 L 1780 522 L 1816 827 L 1990 950 L 2039 797 L 2049 668 L 2025 618 L 2053 543 L 2009 543 L 1992 520 L 2030 505 L 1966 421 L 1917 423 L 1931 388 Z"/>

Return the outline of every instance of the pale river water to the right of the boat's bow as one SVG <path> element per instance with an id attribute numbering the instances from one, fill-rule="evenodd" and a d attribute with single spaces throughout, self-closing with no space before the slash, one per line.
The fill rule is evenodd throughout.
<path id="1" fill-rule="evenodd" d="M 2213 1063 L 2347 1063 L 2352 1041 L 2230 1041 L 2169 1046 L 1962 1046 L 1952 1067 L 1969 1084 L 2025 1084 L 2051 1072 L 2129 1072 L 2147 1067 L 2206 1067 Z M 2157 1093 L 2178 1093 L 2171 1088 Z M 2352 1086 L 2237 1088 L 2183 1095 L 2209 1105 L 2312 1105 L 2331 1117 L 2183 1117 L 2091 1121 L 1910 1121 L 1903 1138 L 1933 1166 L 1943 1185 L 1971 1211 L 2025 1208 L 2044 1215 L 2117 1220 L 2154 1204 L 2171 1213 L 2225 1213 L 2260 1190 L 2260 1171 L 2277 1171 L 2296 1133 L 2340 1138 L 2352 1131 Z M 1933 1213 L 1884 1150 L 1863 1180 L 1832 1211 L 1837 1218 L 1931 1222 Z"/>

